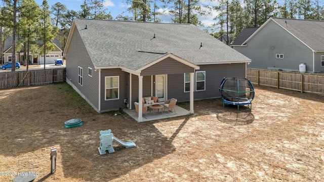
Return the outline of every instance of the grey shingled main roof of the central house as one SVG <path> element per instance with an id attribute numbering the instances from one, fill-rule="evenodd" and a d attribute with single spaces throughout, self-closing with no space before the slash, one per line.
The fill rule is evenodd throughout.
<path id="1" fill-rule="evenodd" d="M 251 61 L 191 24 L 95 19 L 73 21 L 97 67 L 138 69 L 168 54 L 197 65 Z M 68 46 L 67 43 L 64 53 Z"/>

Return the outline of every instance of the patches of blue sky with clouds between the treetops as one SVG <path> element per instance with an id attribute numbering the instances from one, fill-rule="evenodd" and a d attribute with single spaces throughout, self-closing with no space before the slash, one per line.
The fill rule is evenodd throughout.
<path id="1" fill-rule="evenodd" d="M 35 0 L 35 2 L 38 5 L 42 5 L 43 0 Z M 48 0 L 47 1 L 49 6 L 51 7 L 52 5 L 54 5 L 57 2 L 60 2 L 61 4 L 65 5 L 67 7 L 68 10 L 74 10 L 74 11 L 80 11 L 80 5 L 83 4 L 84 0 Z M 156 1 L 158 2 L 158 1 Z M 204 1 L 202 1 L 204 3 Z M 205 4 L 214 4 L 216 5 L 216 2 L 208 2 L 205 1 Z M 115 18 L 117 15 L 124 13 L 124 15 L 128 15 L 127 12 L 127 8 L 129 7 L 129 5 L 127 5 L 125 3 L 125 1 L 123 0 L 104 0 L 104 7 L 106 9 L 108 9 L 107 11 L 110 12 L 110 14 L 112 15 L 113 18 Z M 166 14 L 168 14 L 168 9 L 159 9 L 157 11 L 164 11 L 166 12 Z M 130 15 L 132 16 L 132 15 Z M 216 12 L 213 12 L 213 15 L 209 16 L 209 17 L 199 17 L 199 20 L 205 25 L 205 27 L 212 25 L 213 23 L 216 23 L 215 20 L 213 20 L 213 18 L 216 16 Z M 160 18 L 163 22 L 165 23 L 170 23 L 171 22 L 171 16 L 161 16 L 158 17 Z"/>

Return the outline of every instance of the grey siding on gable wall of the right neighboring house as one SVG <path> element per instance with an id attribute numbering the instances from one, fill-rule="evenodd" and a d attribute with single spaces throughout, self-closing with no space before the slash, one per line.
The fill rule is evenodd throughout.
<path id="1" fill-rule="evenodd" d="M 252 60 L 248 65 L 251 68 L 299 71 L 299 64 L 305 63 L 306 71 L 311 72 L 313 67 L 312 51 L 273 21 L 252 37 L 246 47 L 235 50 Z M 284 59 L 277 59 L 276 54 L 283 54 Z"/>

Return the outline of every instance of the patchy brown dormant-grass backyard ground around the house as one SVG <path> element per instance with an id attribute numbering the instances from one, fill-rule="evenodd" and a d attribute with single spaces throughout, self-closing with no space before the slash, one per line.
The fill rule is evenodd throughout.
<path id="1" fill-rule="evenodd" d="M 37 172 L 34 181 L 321 181 L 323 101 L 257 87 L 252 111 L 211 99 L 195 101 L 193 115 L 137 123 L 96 113 L 67 83 L 2 89 L 0 172 Z M 65 128 L 72 118 L 83 125 Z M 107 129 L 137 146 L 113 143 L 115 153 L 99 155 L 99 131 Z"/>

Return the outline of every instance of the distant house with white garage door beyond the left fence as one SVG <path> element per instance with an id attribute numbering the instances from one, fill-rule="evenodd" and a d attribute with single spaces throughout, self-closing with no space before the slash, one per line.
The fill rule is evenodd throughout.
<path id="1" fill-rule="evenodd" d="M 39 45 L 42 45 L 42 41 L 37 41 Z M 61 42 L 59 39 L 54 38 L 52 43 L 54 44 L 54 50 L 50 51 L 45 58 L 46 64 L 54 64 L 54 60 L 58 58 L 62 58 L 62 50 L 61 50 Z M 17 51 L 17 50 L 16 50 Z M 20 64 L 24 61 L 24 45 L 21 43 L 21 50 L 20 53 L 16 53 L 16 62 L 18 62 L 18 58 L 20 56 Z M 4 60 L 5 63 L 12 61 L 12 36 L 5 40 L 4 46 Z M 29 52 L 29 61 L 31 64 L 44 64 L 44 55 L 36 55 L 33 57 L 32 53 Z"/>

